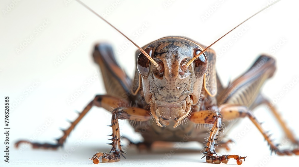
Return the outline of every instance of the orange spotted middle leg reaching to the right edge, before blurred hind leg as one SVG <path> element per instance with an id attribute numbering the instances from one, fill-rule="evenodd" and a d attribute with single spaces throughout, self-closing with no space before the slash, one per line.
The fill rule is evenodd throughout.
<path id="1" fill-rule="evenodd" d="M 276 152 L 278 155 L 299 155 L 299 149 L 294 150 L 280 150 L 278 149 L 278 145 L 274 144 L 272 140 L 270 140 L 270 135 L 265 132 L 262 128 L 261 124 L 257 121 L 256 117 L 253 113 L 245 106 L 236 106 L 233 104 L 225 104 L 219 107 L 220 113 L 223 119 L 233 120 L 240 117 L 248 117 L 251 122 L 257 127 L 260 133 L 263 135 L 265 140 L 268 142 L 271 151 Z"/>

